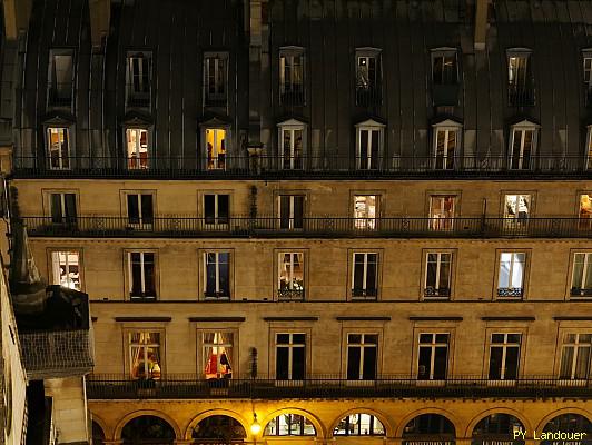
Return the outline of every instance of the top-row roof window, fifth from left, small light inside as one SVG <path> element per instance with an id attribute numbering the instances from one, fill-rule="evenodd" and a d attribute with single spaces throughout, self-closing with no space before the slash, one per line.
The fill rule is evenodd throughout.
<path id="1" fill-rule="evenodd" d="M 356 49 L 356 105 L 361 107 L 382 103 L 381 50 Z"/>

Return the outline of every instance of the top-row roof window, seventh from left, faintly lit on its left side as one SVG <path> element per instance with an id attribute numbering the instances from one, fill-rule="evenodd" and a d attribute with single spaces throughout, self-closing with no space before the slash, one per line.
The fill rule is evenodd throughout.
<path id="1" fill-rule="evenodd" d="M 526 48 L 507 50 L 507 98 L 511 106 L 534 105 L 531 56 L 532 51 Z"/>

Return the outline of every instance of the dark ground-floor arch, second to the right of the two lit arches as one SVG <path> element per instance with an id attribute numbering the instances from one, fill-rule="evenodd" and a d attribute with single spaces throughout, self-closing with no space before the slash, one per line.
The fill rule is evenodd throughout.
<path id="1" fill-rule="evenodd" d="M 517 417 L 493 413 L 475 425 L 471 445 L 524 445 L 525 432 Z"/>

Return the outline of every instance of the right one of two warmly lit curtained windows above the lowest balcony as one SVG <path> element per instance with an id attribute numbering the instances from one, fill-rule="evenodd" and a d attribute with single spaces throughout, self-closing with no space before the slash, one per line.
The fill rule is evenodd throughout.
<path id="1" fill-rule="evenodd" d="M 231 378 L 234 335 L 228 332 L 204 333 L 204 374 L 206 379 Z"/>

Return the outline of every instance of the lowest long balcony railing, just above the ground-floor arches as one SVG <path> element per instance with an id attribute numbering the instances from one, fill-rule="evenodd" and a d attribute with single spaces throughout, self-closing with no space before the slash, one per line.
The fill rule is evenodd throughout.
<path id="1" fill-rule="evenodd" d="M 221 384 L 218 384 L 221 383 Z M 347 398 L 347 397 L 592 397 L 592 380 L 523 377 L 490 380 L 460 376 L 445 380 L 417 380 L 408 376 L 381 376 L 374 380 L 347 380 L 338 376 L 313 376 L 299 380 L 231 378 L 206 380 L 190 375 L 168 375 L 159 380 L 130 380 L 125 376 L 91 375 L 89 399 L 138 398 Z"/>

